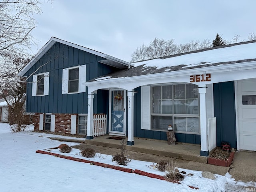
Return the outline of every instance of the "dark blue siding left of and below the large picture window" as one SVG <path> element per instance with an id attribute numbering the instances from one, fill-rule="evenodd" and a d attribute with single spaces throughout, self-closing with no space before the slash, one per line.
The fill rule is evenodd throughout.
<path id="1" fill-rule="evenodd" d="M 144 130 L 141 128 L 141 87 L 136 88 L 134 96 L 134 136 L 140 138 L 150 138 L 167 140 L 166 131 Z M 200 144 L 200 135 L 175 133 L 178 142 Z"/>

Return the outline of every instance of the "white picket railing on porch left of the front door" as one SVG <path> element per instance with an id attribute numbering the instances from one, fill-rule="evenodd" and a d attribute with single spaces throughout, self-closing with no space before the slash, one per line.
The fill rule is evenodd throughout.
<path id="1" fill-rule="evenodd" d="M 93 128 L 92 136 L 100 136 L 107 134 L 107 115 L 94 114 L 93 115 Z"/>

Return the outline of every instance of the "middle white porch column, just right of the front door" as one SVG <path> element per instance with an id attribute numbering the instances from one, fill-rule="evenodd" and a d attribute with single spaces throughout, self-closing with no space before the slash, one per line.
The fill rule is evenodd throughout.
<path id="1" fill-rule="evenodd" d="M 134 110 L 134 90 L 128 90 L 128 140 L 127 145 L 134 145 L 134 122 L 133 122 L 133 110 Z"/>

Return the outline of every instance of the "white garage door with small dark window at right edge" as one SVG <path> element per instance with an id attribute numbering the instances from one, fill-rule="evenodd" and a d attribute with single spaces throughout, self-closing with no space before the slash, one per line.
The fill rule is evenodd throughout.
<path id="1" fill-rule="evenodd" d="M 256 79 L 238 81 L 240 149 L 256 151 Z"/>

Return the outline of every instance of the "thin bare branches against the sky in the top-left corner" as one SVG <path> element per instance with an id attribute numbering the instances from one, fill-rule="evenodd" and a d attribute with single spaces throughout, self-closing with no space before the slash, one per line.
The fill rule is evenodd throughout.
<path id="1" fill-rule="evenodd" d="M 36 27 L 34 14 L 40 14 L 40 4 L 38 0 L 0 1 L 0 56 L 26 54 L 34 44 L 31 31 Z"/>

